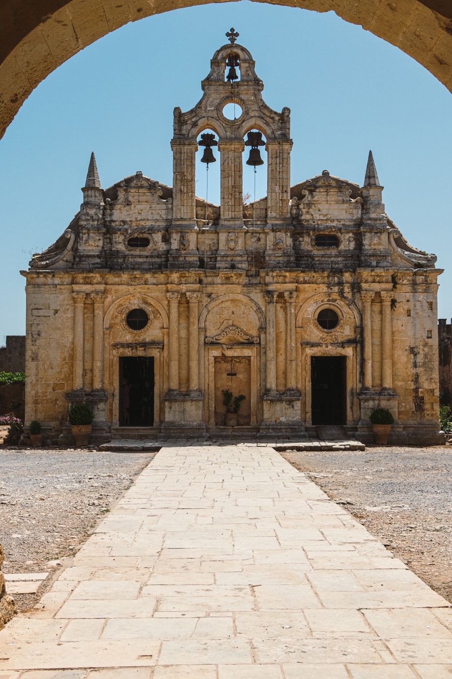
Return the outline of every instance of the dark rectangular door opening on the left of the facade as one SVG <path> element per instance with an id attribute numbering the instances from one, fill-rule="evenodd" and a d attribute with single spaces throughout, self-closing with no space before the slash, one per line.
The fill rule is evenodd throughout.
<path id="1" fill-rule="evenodd" d="M 153 426 L 154 357 L 119 359 L 119 426 Z"/>

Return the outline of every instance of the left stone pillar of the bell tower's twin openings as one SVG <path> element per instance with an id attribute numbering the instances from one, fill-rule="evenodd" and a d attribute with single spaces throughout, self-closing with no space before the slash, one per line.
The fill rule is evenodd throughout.
<path id="1" fill-rule="evenodd" d="M 173 223 L 194 222 L 196 201 L 196 139 L 172 139 L 173 149 Z"/>

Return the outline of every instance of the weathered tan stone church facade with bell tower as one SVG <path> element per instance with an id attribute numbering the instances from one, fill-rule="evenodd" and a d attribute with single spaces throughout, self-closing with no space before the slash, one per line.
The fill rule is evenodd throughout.
<path id="1" fill-rule="evenodd" d="M 174 109 L 173 186 L 137 172 L 102 189 L 91 155 L 79 214 L 22 272 L 26 425 L 72 443 L 83 402 L 93 443 L 321 424 L 373 441 L 382 406 L 394 442 L 438 443 L 436 257 L 386 215 L 371 153 L 362 187 L 327 170 L 290 185 L 290 111 L 227 35 L 199 103 Z M 197 151 L 220 161 L 219 206 L 195 195 Z M 251 204 L 244 151 L 268 176 Z M 232 422 L 225 390 L 245 397 Z"/>

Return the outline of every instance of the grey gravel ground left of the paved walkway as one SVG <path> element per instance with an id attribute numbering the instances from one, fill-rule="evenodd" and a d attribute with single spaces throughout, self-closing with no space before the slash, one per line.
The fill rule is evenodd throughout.
<path id="1" fill-rule="evenodd" d="M 60 565 L 68 564 L 154 456 L 89 449 L 0 449 L 3 571 L 49 572 L 38 595 L 14 595 L 19 610 L 35 605 Z"/>

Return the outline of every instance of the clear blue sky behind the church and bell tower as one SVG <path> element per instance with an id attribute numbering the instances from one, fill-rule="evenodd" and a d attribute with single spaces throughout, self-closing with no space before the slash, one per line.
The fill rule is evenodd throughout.
<path id="1" fill-rule="evenodd" d="M 19 270 L 79 210 L 91 151 L 103 187 L 136 170 L 171 185 L 173 107 L 186 111 L 201 98 L 230 26 L 253 54 L 268 105 L 291 109 L 291 183 L 327 169 L 362 184 L 372 149 L 386 212 L 411 244 L 438 255 L 446 270 L 439 316 L 452 316 L 451 94 L 409 56 L 332 12 L 242 1 L 124 26 L 49 75 L 22 106 L 0 141 L 0 344 L 24 334 Z M 209 170 L 211 200 L 219 164 Z M 252 172 L 244 191 L 253 194 Z M 197 194 L 205 196 L 204 170 Z"/>

